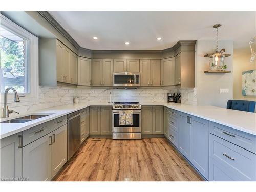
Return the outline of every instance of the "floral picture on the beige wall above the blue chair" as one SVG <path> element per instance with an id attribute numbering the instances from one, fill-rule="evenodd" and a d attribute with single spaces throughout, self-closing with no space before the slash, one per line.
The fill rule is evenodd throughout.
<path id="1" fill-rule="evenodd" d="M 242 95 L 256 96 L 256 70 L 242 72 Z"/>

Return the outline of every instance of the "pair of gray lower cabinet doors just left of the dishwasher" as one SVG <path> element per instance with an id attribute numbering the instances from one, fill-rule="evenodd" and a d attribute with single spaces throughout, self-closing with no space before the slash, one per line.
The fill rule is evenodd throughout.
<path id="1" fill-rule="evenodd" d="M 23 147 L 23 178 L 50 181 L 67 162 L 67 124 Z"/>

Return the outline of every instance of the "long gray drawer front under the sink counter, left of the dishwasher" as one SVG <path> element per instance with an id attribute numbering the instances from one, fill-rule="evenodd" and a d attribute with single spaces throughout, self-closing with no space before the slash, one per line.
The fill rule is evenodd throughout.
<path id="1" fill-rule="evenodd" d="M 58 127 L 65 125 L 66 123 L 67 117 L 63 116 L 23 131 L 23 146 L 35 141 L 36 139 L 39 139 L 42 136 L 47 135 L 48 133 L 58 129 Z"/>

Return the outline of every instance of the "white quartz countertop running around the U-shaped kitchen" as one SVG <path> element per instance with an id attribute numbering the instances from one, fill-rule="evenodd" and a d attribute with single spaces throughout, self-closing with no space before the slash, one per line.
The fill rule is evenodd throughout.
<path id="1" fill-rule="evenodd" d="M 218 108 L 215 106 L 191 106 L 184 104 L 170 104 L 170 103 L 140 103 L 141 105 L 151 105 L 151 106 L 166 106 L 174 110 L 178 110 L 190 115 L 194 115 L 209 121 L 220 123 L 233 129 L 240 130 L 252 135 L 256 135 L 256 113 L 230 110 L 225 108 Z M 63 115 L 81 110 L 88 106 L 111 106 L 111 103 L 77 103 L 68 104 L 63 106 L 56 106 L 54 108 L 43 109 L 38 111 L 30 112 L 29 114 L 51 114 L 46 117 L 35 119 L 26 123 L 0 123 L 0 138 L 5 138 L 10 135 L 22 132 L 24 130 L 30 129 L 33 126 L 39 125 L 41 123 L 56 119 Z M 22 114 L 17 117 L 22 117 L 29 114 Z M 13 118 L 2 118 L 0 121 L 5 121 Z"/>

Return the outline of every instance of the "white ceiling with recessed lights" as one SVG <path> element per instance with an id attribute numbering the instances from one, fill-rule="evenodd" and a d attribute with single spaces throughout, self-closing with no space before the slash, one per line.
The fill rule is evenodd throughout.
<path id="1" fill-rule="evenodd" d="M 93 50 L 162 50 L 179 40 L 234 40 L 248 46 L 256 35 L 256 12 L 100 12 L 50 11 L 83 48 Z M 97 36 L 98 40 L 93 40 Z M 162 37 L 158 41 L 156 38 Z M 129 41 L 130 45 L 124 42 Z"/>

